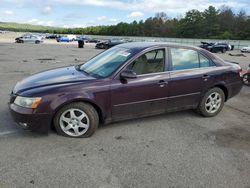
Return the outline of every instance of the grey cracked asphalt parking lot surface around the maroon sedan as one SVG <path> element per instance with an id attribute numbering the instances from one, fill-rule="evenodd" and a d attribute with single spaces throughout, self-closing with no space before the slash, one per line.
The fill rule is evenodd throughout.
<path id="1" fill-rule="evenodd" d="M 175 112 L 100 126 L 87 139 L 35 134 L 12 121 L 8 100 L 17 81 L 99 52 L 92 44 L 0 43 L 1 188 L 250 187 L 250 87 L 213 118 Z M 218 55 L 250 63 L 249 54 Z"/>

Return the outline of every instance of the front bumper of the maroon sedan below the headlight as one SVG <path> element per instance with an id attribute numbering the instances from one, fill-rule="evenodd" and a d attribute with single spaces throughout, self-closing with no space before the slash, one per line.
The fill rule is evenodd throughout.
<path id="1" fill-rule="evenodd" d="M 48 134 L 52 121 L 51 114 L 37 114 L 33 109 L 23 108 L 13 103 L 9 108 L 14 121 L 23 128 Z"/>

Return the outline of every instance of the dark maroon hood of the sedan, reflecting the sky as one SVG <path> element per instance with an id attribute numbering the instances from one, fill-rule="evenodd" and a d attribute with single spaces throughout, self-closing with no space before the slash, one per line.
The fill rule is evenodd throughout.
<path id="1" fill-rule="evenodd" d="M 74 66 L 62 67 L 40 72 L 23 79 L 16 84 L 13 89 L 13 93 L 18 94 L 20 92 L 39 87 L 82 82 L 94 79 L 96 78 L 76 70 Z"/>

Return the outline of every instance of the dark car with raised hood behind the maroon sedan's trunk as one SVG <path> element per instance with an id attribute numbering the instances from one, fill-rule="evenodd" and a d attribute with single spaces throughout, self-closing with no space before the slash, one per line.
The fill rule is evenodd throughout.
<path id="1" fill-rule="evenodd" d="M 201 42 L 201 45 L 199 47 L 206 49 L 212 53 L 225 53 L 226 51 L 234 49 L 234 45 L 230 45 L 225 42 Z"/>

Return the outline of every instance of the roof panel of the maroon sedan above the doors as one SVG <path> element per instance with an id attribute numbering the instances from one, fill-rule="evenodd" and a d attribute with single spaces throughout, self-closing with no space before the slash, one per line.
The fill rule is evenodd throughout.
<path id="1" fill-rule="evenodd" d="M 123 48 L 129 48 L 133 50 L 139 50 L 142 51 L 147 48 L 153 48 L 153 47 L 184 47 L 184 48 L 190 48 L 190 49 L 196 49 L 200 50 L 200 48 L 190 45 L 183 45 L 183 44 L 177 44 L 177 43 L 169 43 L 169 42 L 128 42 L 119 44 L 119 47 Z"/>

